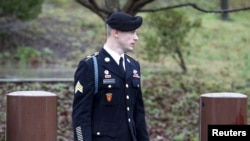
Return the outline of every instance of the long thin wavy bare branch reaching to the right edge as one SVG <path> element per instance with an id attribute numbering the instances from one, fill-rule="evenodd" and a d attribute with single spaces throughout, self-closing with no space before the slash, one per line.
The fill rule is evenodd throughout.
<path id="1" fill-rule="evenodd" d="M 157 12 L 157 11 L 163 11 L 163 10 L 169 10 L 169 9 L 174 9 L 174 8 L 180 8 L 184 6 L 191 6 L 194 9 L 197 9 L 201 12 L 205 13 L 230 13 L 230 12 L 238 12 L 238 11 L 243 11 L 243 10 L 250 10 L 250 7 L 244 7 L 244 8 L 239 8 L 239 9 L 230 9 L 230 10 L 205 10 L 200 7 L 198 7 L 194 3 L 185 3 L 185 4 L 178 4 L 178 5 L 173 5 L 173 6 L 167 6 L 167 7 L 162 7 L 162 8 L 157 8 L 157 9 L 142 9 L 139 10 L 138 12 Z"/>

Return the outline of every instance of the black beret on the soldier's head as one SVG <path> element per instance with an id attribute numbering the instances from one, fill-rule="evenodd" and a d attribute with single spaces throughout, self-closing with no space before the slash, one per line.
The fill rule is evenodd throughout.
<path id="1" fill-rule="evenodd" d="M 113 29 L 133 31 L 141 26 L 142 17 L 131 16 L 124 12 L 115 12 L 107 19 L 106 23 Z"/>

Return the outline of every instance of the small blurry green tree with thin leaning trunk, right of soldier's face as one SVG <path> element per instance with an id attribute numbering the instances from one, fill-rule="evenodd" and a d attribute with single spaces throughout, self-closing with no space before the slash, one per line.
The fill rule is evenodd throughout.
<path id="1" fill-rule="evenodd" d="M 146 17 L 148 26 L 145 34 L 146 59 L 159 61 L 162 56 L 172 56 L 184 73 L 187 72 L 183 53 L 187 54 L 187 34 L 190 30 L 201 26 L 201 21 L 196 19 L 190 21 L 184 11 L 168 10 L 163 12 L 150 13 Z"/>

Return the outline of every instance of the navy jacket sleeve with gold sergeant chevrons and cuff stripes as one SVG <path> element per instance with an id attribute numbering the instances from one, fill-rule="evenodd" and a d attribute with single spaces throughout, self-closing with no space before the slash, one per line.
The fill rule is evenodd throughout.
<path id="1" fill-rule="evenodd" d="M 91 62 L 88 62 L 91 61 Z M 92 141 L 91 114 L 94 97 L 92 60 L 82 60 L 74 75 L 73 130 L 74 141 Z"/>

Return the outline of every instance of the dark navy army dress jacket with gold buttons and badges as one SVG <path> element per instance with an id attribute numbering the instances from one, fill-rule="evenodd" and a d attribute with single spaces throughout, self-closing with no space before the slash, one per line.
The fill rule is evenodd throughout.
<path id="1" fill-rule="evenodd" d="M 140 66 L 124 55 L 125 74 L 101 49 L 98 92 L 94 94 L 93 58 L 80 61 L 74 76 L 73 128 L 75 141 L 149 141 L 140 84 Z"/>

